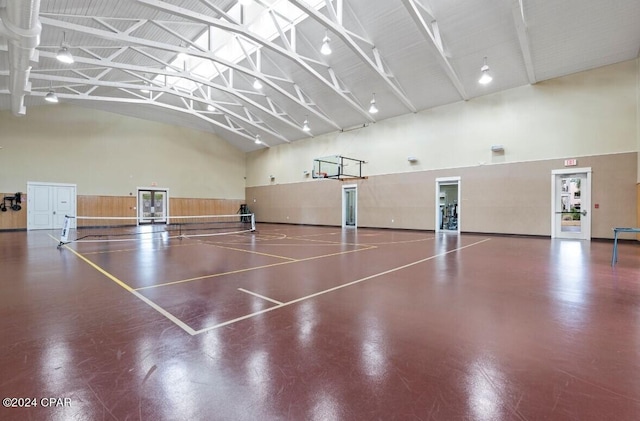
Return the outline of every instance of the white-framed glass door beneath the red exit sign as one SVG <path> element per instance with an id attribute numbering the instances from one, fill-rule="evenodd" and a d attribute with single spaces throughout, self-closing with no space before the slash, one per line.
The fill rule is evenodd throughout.
<path id="1" fill-rule="evenodd" d="M 591 239 L 591 168 L 551 172 L 551 238 Z"/>

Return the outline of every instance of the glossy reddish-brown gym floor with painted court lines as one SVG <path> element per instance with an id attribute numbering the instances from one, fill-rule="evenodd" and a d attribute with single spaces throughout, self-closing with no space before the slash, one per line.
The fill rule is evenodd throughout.
<path id="1" fill-rule="evenodd" d="M 635 243 L 57 234 L 0 233 L 2 420 L 640 419 Z"/>

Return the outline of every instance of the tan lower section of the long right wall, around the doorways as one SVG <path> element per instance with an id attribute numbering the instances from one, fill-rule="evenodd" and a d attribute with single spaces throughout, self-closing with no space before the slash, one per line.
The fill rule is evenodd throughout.
<path id="1" fill-rule="evenodd" d="M 636 161 L 635 152 L 578 158 L 593 170 L 593 238 L 612 238 L 612 227 L 635 224 Z M 256 186 L 247 188 L 247 201 L 258 222 L 340 225 L 342 186 L 357 184 L 358 226 L 433 230 L 436 178 L 460 177 L 463 232 L 548 236 L 551 172 L 563 168 L 563 160 L 551 159 Z"/>

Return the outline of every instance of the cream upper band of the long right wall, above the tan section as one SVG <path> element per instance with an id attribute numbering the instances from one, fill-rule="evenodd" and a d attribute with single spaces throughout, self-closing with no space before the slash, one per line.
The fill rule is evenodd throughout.
<path id="1" fill-rule="evenodd" d="M 367 161 L 363 175 L 633 152 L 639 60 L 514 88 L 247 154 L 247 186 L 310 179 L 313 159 Z M 496 75 L 495 77 L 499 77 Z M 383 103 L 378 104 L 384 107 Z M 503 154 L 491 152 L 503 145 Z M 418 159 L 409 163 L 408 156 Z"/>

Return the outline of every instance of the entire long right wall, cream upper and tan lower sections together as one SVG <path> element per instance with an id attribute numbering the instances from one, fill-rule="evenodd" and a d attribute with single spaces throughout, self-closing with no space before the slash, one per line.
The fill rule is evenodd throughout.
<path id="1" fill-rule="evenodd" d="M 339 225 L 342 182 L 303 172 L 343 155 L 367 161 L 366 179 L 345 181 L 358 185 L 359 226 L 434 229 L 435 179 L 460 176 L 463 231 L 550 235 L 551 171 L 577 158 L 593 169 L 592 237 L 611 238 L 640 218 L 639 79 L 631 60 L 256 151 L 247 201 L 258 221 Z"/>

